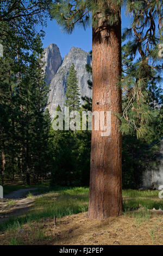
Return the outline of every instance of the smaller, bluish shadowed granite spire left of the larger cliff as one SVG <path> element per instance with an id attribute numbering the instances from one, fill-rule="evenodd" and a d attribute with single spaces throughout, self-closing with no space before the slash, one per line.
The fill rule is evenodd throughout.
<path id="1" fill-rule="evenodd" d="M 62 63 L 62 58 L 58 46 L 51 44 L 45 48 L 42 61 L 45 62 L 43 70 L 47 75 L 46 82 L 49 85 Z"/>

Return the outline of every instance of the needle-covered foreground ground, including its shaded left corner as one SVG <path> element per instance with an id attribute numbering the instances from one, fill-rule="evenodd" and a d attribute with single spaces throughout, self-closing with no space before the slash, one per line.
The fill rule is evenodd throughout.
<path id="1" fill-rule="evenodd" d="M 57 220 L 24 224 L 15 234 L 24 245 L 163 245 L 163 214 L 151 212 L 142 223 L 130 216 L 90 220 L 87 213 Z M 41 235 L 42 234 L 42 235 Z M 13 234 L 0 234 L 0 244 L 9 244 Z"/>

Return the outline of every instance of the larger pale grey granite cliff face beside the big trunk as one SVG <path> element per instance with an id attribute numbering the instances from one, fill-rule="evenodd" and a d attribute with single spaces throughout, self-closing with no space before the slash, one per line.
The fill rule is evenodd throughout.
<path id="1" fill-rule="evenodd" d="M 72 63 L 77 70 L 80 99 L 83 96 L 92 97 L 92 90 L 88 88 L 87 84 L 87 81 L 91 80 L 91 74 L 89 74 L 85 68 L 86 64 L 91 63 L 91 58 L 87 52 L 80 48 L 72 47 L 70 53 L 65 56 L 57 74 L 52 78 L 49 88 L 48 108 L 52 118 L 54 117 L 55 109 L 58 105 L 64 110 L 66 83 Z M 80 101 L 81 104 L 84 103 L 82 99 Z"/>

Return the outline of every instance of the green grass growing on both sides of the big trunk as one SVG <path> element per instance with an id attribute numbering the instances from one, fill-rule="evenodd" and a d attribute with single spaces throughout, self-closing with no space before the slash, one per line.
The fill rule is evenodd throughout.
<path id="1" fill-rule="evenodd" d="M 47 237 L 50 241 L 54 234 L 46 236 L 45 231 L 40 228 L 40 223 L 47 223 L 47 220 L 53 222 L 54 216 L 57 217 L 57 221 L 59 222 L 64 216 L 76 215 L 88 210 L 88 187 L 39 187 L 38 191 L 45 194 L 35 198 L 34 208 L 29 210 L 26 215 L 10 218 L 0 223 L 0 231 L 9 233 L 17 232 L 27 224 L 30 227 L 29 234 L 33 241 L 43 241 Z M 152 218 L 152 214 L 148 209 L 163 209 L 163 200 L 159 199 L 158 193 L 159 191 L 124 190 L 123 218 L 133 220 L 137 229 L 143 224 L 148 225 Z M 29 193 L 27 197 L 31 196 L 32 194 Z M 162 220 L 158 220 L 158 225 L 160 223 L 162 223 Z M 154 239 L 156 239 L 155 228 L 152 227 L 149 229 L 148 233 L 152 239 L 152 243 L 154 243 Z M 10 237 L 9 243 L 12 245 L 22 244 L 16 235 Z"/>

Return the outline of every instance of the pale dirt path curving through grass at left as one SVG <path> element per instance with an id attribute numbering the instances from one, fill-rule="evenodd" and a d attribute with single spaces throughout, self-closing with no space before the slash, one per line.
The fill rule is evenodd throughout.
<path id="1" fill-rule="evenodd" d="M 37 188 L 22 188 L 11 192 L 0 199 L 0 222 L 8 220 L 9 217 L 22 215 L 32 208 L 35 197 L 26 198 L 29 191 Z"/>

